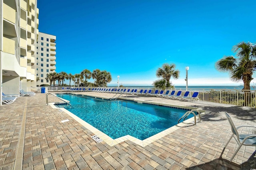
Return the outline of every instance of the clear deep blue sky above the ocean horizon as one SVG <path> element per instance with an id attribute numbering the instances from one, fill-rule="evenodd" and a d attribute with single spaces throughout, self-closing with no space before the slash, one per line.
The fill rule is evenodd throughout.
<path id="1" fill-rule="evenodd" d="M 214 64 L 256 43 L 255 0 L 38 0 L 39 31 L 56 35 L 56 72 L 106 70 L 109 85 L 152 85 L 164 63 L 188 85 L 240 85 Z M 256 73 L 253 82 L 256 83 Z M 89 80 L 94 82 L 94 80 Z"/>

